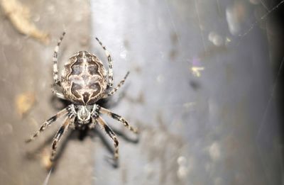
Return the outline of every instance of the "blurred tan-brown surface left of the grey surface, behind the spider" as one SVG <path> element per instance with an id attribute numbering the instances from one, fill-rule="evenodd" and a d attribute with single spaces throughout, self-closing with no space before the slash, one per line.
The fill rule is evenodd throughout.
<path id="1" fill-rule="evenodd" d="M 51 165 L 49 138 L 62 120 L 24 141 L 62 108 L 51 92 L 53 50 L 63 31 L 60 67 L 73 52 L 89 50 L 89 2 L 1 0 L 0 6 L 0 184 L 43 184 Z M 61 146 L 48 184 L 92 184 L 91 139 Z"/>

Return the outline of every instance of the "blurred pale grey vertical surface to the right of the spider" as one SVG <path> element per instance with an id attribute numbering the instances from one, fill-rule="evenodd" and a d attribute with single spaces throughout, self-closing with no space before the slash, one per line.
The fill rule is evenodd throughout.
<path id="1" fill-rule="evenodd" d="M 119 169 L 96 147 L 94 184 L 280 184 L 273 28 L 253 23 L 264 13 L 257 1 L 92 1 L 116 83 L 131 71 L 112 110 L 141 128 L 137 145 L 120 138 Z"/>

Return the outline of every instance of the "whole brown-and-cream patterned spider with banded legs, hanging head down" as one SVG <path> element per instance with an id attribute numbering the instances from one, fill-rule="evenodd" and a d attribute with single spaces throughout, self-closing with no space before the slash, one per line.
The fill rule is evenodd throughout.
<path id="1" fill-rule="evenodd" d="M 67 128 L 82 129 L 82 128 L 94 128 L 94 125 L 98 123 L 102 130 L 109 135 L 114 142 L 114 159 L 119 158 L 119 141 L 116 138 L 116 134 L 111 130 L 109 125 L 104 119 L 99 116 L 99 113 L 107 114 L 111 118 L 123 123 L 124 126 L 129 128 L 133 133 L 138 133 L 136 128 L 131 127 L 129 123 L 121 116 L 109 111 L 106 108 L 99 106 L 96 102 L 99 99 L 105 99 L 113 95 L 125 82 L 129 75 L 126 73 L 124 79 L 117 84 L 115 88 L 112 88 L 114 83 L 112 72 L 112 60 L 111 55 L 107 51 L 106 47 L 102 45 L 102 42 L 98 38 L 96 40 L 99 45 L 102 46 L 109 62 L 108 72 L 104 68 L 101 60 L 96 55 L 93 55 L 87 51 L 80 51 L 75 53 L 65 63 L 64 69 L 62 69 L 61 80 L 58 78 L 58 50 L 60 43 L 64 38 L 65 32 L 62 33 L 58 44 L 55 47 L 53 54 L 53 80 L 54 86 L 58 86 L 61 91 L 53 89 L 53 94 L 60 99 L 70 101 L 71 104 L 62 109 L 55 116 L 52 116 L 40 126 L 39 130 L 35 132 L 30 139 L 26 142 L 34 140 L 45 128 L 55 122 L 61 116 L 66 116 L 63 124 L 59 128 L 53 139 L 52 152 L 50 155 L 50 161 L 53 161 L 56 153 L 56 148 L 60 138 L 67 131 Z"/>

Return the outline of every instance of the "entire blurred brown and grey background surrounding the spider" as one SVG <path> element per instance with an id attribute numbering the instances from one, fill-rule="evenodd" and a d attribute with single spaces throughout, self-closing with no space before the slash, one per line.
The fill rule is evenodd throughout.
<path id="1" fill-rule="evenodd" d="M 0 184 L 283 184 L 283 1 L 0 1 Z M 69 130 L 50 164 L 62 119 L 24 140 L 67 102 L 55 98 L 60 69 L 79 50 L 126 84 L 102 106 L 141 130 L 104 118 Z"/>

